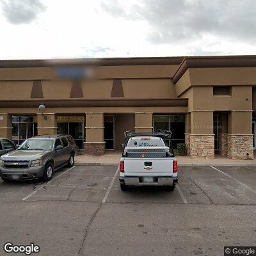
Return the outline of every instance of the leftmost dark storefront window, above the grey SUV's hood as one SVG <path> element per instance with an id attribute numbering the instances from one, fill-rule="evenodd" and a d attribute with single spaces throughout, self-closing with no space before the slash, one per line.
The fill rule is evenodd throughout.
<path id="1" fill-rule="evenodd" d="M 12 140 L 20 145 L 37 135 L 36 116 L 12 116 Z"/>

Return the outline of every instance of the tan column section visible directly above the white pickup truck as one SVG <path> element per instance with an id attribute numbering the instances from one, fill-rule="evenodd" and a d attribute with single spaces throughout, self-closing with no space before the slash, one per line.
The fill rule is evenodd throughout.
<path id="1" fill-rule="evenodd" d="M 153 131 L 153 113 L 135 113 L 135 132 L 152 132 Z"/>

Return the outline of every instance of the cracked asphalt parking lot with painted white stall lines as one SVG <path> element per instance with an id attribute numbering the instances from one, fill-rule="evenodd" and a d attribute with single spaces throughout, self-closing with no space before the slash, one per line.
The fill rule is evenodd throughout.
<path id="1" fill-rule="evenodd" d="M 175 191 L 121 191 L 117 166 L 75 166 L 51 182 L 0 181 L 0 255 L 223 255 L 255 246 L 256 167 L 180 167 Z M 13 253 L 17 255 L 17 253 Z"/>

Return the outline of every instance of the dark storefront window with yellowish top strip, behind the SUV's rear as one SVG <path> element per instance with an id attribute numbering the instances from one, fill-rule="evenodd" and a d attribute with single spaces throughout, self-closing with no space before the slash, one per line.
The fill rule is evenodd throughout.
<path id="1" fill-rule="evenodd" d="M 71 135 L 79 148 L 85 141 L 84 116 L 57 116 L 57 133 Z"/>

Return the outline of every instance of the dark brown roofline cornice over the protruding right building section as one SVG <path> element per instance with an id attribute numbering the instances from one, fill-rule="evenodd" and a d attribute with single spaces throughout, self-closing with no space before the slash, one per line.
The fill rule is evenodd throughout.
<path id="1" fill-rule="evenodd" d="M 188 68 L 256 67 L 256 55 L 185 57 L 172 81 L 177 83 Z"/>

